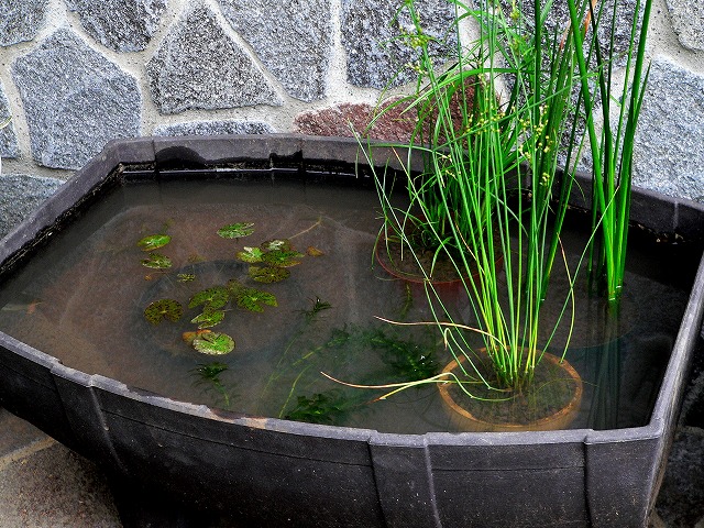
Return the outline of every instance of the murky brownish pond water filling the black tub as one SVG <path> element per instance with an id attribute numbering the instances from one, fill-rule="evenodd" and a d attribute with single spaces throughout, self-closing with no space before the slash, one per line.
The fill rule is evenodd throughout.
<path id="1" fill-rule="evenodd" d="M 429 319 L 422 288 L 375 264 L 380 222 L 369 188 L 272 180 L 125 184 L 3 279 L 0 330 L 65 365 L 176 400 L 388 432 L 453 430 L 435 386 L 376 400 L 383 391 L 322 374 L 380 385 L 438 372 L 450 361 L 431 327 L 380 320 Z M 251 223 L 253 233 L 217 234 L 233 223 Z M 167 270 L 142 264 L 150 252 L 136 242 L 156 233 L 170 237 L 152 251 L 170 260 Z M 235 255 L 272 240 L 289 241 L 299 264 L 286 267 L 287 279 L 263 284 Z M 646 424 L 674 342 L 692 272 L 653 244 L 631 246 L 619 320 L 600 322 L 603 307 L 578 286 L 576 333 L 566 353 L 584 381 L 574 428 Z M 563 285 L 556 280 L 559 290 Z M 204 306 L 189 308 L 189 301 L 228 284 L 233 300 L 218 308 L 223 321 L 197 334 L 191 320 Z M 457 317 L 469 312 L 459 292 L 442 295 Z M 147 321 L 147 306 L 165 298 L 180 304 L 180 319 Z M 261 311 L 238 306 L 241 298 L 254 299 Z M 207 342 L 209 332 L 231 337 L 234 350 L 208 355 L 189 344 Z M 560 339 L 559 332 L 557 350 Z"/>

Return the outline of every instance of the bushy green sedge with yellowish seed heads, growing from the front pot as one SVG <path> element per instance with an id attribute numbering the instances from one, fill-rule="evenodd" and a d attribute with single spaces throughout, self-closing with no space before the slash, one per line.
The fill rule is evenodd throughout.
<path id="1" fill-rule="evenodd" d="M 594 23 L 584 23 L 591 4 L 572 0 L 573 23 L 564 37 L 561 30 L 542 30 L 552 10 L 550 2 L 530 2 L 532 15 L 526 14 L 528 2 L 520 0 L 506 11 L 490 1 L 479 2 L 477 9 L 451 3 L 457 9 L 454 30 L 459 31 L 461 21 L 472 20 L 479 36 L 465 46 L 460 42 L 457 53 L 448 57 L 452 66 L 442 70 L 428 53 L 431 37 L 422 29 L 415 2 L 404 2 L 415 24 L 408 41 L 420 57 L 418 89 L 404 102 L 408 111 L 417 111 L 418 125 L 408 157 L 399 157 L 405 162 L 410 206 L 392 205 L 394 186 L 386 174 L 378 177 L 377 190 L 385 224 L 402 238 L 406 222 L 417 218 L 414 211 L 425 213 L 427 196 L 442 205 L 443 221 L 428 222 L 426 228 L 438 242 L 438 257 L 451 260 L 461 277 L 474 275 L 462 282 L 472 317 L 449 316 L 430 273 L 424 271 L 435 320 L 420 323 L 435 324 L 451 354 L 468 360 L 468 366 L 457 374 L 389 386 L 389 394 L 418 383 L 449 381 L 470 396 L 477 383 L 504 394 L 521 394 L 530 386 L 557 326 L 566 317 L 571 333 L 574 317 L 571 288 L 579 266 L 568 266 L 560 234 L 574 160 L 584 139 L 573 97 L 579 107 L 592 76 L 579 65 L 582 51 L 576 51 L 594 31 Z M 373 148 L 365 150 L 372 166 Z M 419 176 L 413 172 L 413 153 L 425 160 Z M 407 253 L 416 257 L 411 243 Z M 503 270 L 497 265 L 501 257 Z M 539 342 L 541 308 L 558 270 L 570 292 L 549 338 Z M 569 339 L 562 356 L 568 344 Z M 491 374 L 480 367 L 486 363 Z"/>

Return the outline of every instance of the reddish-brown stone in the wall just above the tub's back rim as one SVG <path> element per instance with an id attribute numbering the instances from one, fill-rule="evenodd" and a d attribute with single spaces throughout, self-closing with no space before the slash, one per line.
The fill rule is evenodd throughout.
<path id="1" fill-rule="evenodd" d="M 407 142 L 416 121 L 415 114 L 403 113 L 403 108 L 389 110 L 367 130 L 374 117 L 374 107 L 344 102 L 322 110 L 299 113 L 294 120 L 294 129 L 308 135 L 351 138 L 356 133 L 377 140 Z"/>

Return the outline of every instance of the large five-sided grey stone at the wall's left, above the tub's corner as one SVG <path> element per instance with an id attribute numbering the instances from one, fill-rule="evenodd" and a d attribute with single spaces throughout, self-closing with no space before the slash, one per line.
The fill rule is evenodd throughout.
<path id="1" fill-rule="evenodd" d="M 79 168 L 108 141 L 140 135 L 136 80 L 69 30 L 19 57 L 12 76 L 41 165 Z"/>

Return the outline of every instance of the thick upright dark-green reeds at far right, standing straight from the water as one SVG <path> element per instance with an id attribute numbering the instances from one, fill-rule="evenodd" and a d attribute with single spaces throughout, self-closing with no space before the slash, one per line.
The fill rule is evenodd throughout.
<path id="1" fill-rule="evenodd" d="M 581 19 L 579 6 L 575 0 L 568 0 L 568 7 L 571 23 L 574 25 Z M 626 266 L 634 140 L 649 74 L 648 67 L 644 76 L 651 8 L 652 0 L 636 1 L 625 57 L 615 52 L 618 1 L 614 1 L 610 8 L 596 1 L 588 4 L 588 19 L 594 31 L 586 41 L 579 32 L 572 33 L 592 150 L 592 220 L 601 234 L 600 248 L 591 248 L 590 277 L 604 290 L 612 307 L 617 306 L 620 299 Z M 607 23 L 610 30 L 605 43 L 600 42 L 596 31 L 602 23 Z M 616 64 L 624 58 L 624 88 L 620 97 L 616 97 Z M 592 63 L 595 65 L 592 68 L 593 74 L 587 75 Z M 594 119 L 597 100 L 602 109 L 601 135 L 596 132 Z M 614 107 L 617 107 L 616 112 Z M 617 113 L 616 122 L 612 118 L 613 113 Z"/>

